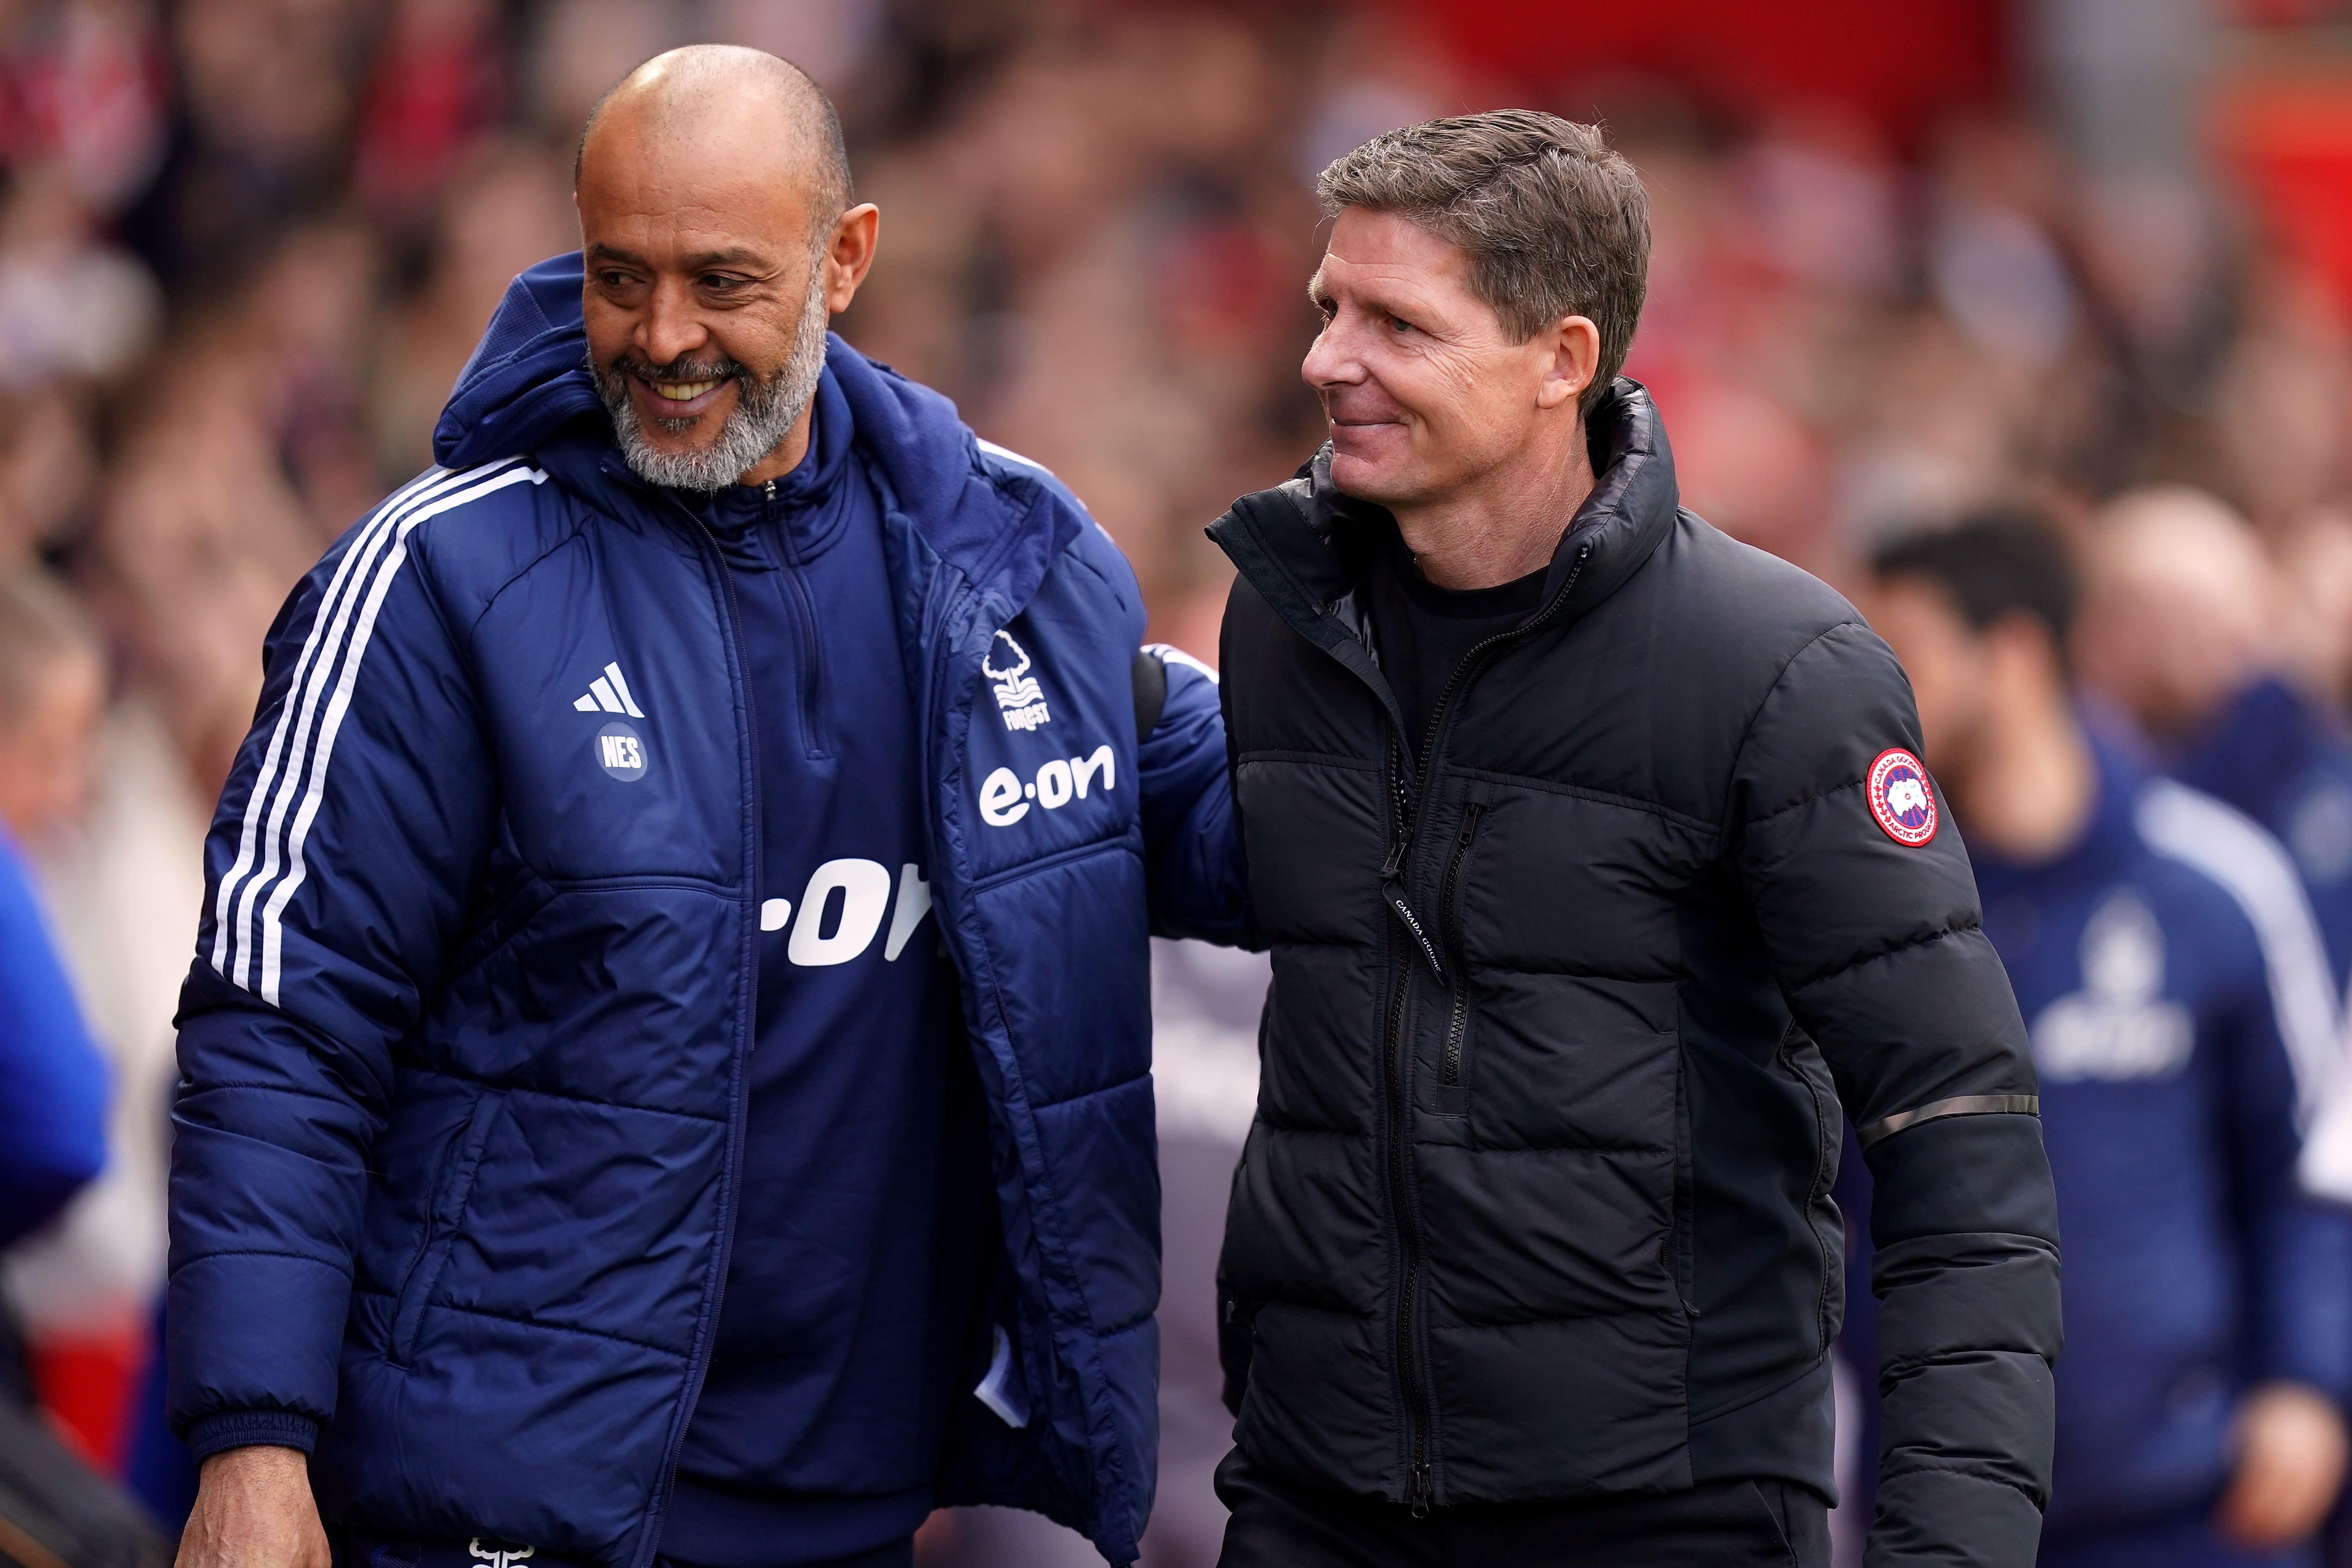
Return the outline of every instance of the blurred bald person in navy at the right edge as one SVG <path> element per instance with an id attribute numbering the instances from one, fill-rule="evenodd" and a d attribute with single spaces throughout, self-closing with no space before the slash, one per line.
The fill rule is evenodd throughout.
<path id="1" fill-rule="evenodd" d="M 2284 595 L 2253 527 L 2213 496 L 2154 487 L 2091 529 L 2084 679 L 2169 769 L 2286 844 L 2319 914 L 2336 994 L 2352 980 L 2352 738 L 2286 679 Z M 2343 1185 L 2352 1192 L 2352 1152 Z"/>

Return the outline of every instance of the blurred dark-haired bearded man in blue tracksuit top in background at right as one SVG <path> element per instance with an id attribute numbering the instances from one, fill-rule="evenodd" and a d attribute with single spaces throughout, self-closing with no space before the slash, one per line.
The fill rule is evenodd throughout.
<path id="1" fill-rule="evenodd" d="M 2067 1246 L 2042 1561 L 2305 1561 L 2345 1455 L 2352 1232 L 2298 1182 L 2333 990 L 2277 844 L 2084 724 L 2072 609 L 2027 517 L 1893 543 L 1870 602 L 2042 1074 Z"/>

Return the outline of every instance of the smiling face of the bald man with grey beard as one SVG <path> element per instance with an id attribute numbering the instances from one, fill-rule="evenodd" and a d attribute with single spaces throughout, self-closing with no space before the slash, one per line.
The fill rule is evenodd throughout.
<path id="1" fill-rule="evenodd" d="M 826 322 L 875 240 L 873 207 L 816 212 L 811 155 L 783 106 L 663 92 L 659 61 L 597 115 L 574 197 L 581 306 L 614 433 L 647 480 L 755 482 L 807 447 Z"/>

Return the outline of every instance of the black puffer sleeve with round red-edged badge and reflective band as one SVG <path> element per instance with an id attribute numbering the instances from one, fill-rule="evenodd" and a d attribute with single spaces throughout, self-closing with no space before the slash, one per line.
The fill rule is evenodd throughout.
<path id="1" fill-rule="evenodd" d="M 1733 858 L 1797 1027 L 1875 1178 L 1879 1512 L 1870 1568 L 2027 1568 L 2051 1481 L 2058 1211 L 2025 1025 L 1943 799 L 1900 844 L 1870 806 L 1919 752 L 1910 684 L 1860 623 L 1788 661 L 1733 773 Z"/>

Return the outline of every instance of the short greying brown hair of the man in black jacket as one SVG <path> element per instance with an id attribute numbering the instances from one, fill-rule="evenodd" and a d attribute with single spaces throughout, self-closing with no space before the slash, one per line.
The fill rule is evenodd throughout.
<path id="1" fill-rule="evenodd" d="M 1470 254 L 1470 292 L 1526 341 L 1588 315 L 1602 357 L 1592 409 L 1621 369 L 1649 292 L 1649 193 L 1597 125 L 1534 108 L 1423 120 L 1374 136 L 1315 181 L 1327 214 L 1392 212 Z"/>

